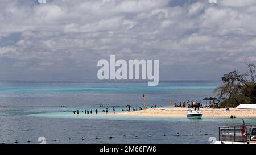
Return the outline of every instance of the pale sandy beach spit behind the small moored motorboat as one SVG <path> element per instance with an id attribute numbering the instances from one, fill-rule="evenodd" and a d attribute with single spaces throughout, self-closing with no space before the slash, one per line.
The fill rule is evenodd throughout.
<path id="1" fill-rule="evenodd" d="M 225 108 L 201 108 L 203 112 L 202 118 L 230 118 L 231 115 L 236 118 L 256 118 L 256 110 L 229 108 L 226 112 Z M 117 112 L 116 116 L 137 116 L 137 117 L 155 117 L 155 118 L 186 118 L 188 108 L 148 108 L 146 110 Z"/>

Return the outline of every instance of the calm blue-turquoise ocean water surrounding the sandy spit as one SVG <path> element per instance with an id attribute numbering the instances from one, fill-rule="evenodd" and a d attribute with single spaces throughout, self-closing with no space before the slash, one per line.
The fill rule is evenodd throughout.
<path id="1" fill-rule="evenodd" d="M 148 107 L 167 108 L 170 100 L 180 103 L 217 97 L 214 89 L 220 84 L 220 81 L 160 81 L 158 86 L 127 81 L 0 81 L 0 142 L 39 143 L 39 137 L 44 137 L 46 143 L 210 143 L 210 137 L 218 139 L 218 126 L 241 125 L 242 120 L 105 117 L 101 115 L 101 106 L 115 107 L 117 112 L 127 104 L 140 107 L 144 93 Z M 73 110 L 96 108 L 99 115 L 72 114 Z M 256 119 L 246 122 L 255 124 Z"/>

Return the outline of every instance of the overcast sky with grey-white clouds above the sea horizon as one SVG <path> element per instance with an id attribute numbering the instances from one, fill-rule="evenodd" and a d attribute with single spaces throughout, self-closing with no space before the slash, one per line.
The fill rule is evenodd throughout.
<path id="1" fill-rule="evenodd" d="M 255 0 L 0 0 L 0 79 L 97 79 L 97 61 L 159 59 L 160 79 L 256 63 Z"/>

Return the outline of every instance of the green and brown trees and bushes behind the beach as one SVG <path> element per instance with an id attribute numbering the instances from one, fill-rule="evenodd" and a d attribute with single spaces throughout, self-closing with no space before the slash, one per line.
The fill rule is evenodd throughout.
<path id="1" fill-rule="evenodd" d="M 224 74 L 222 85 L 216 88 L 220 97 L 226 97 L 219 107 L 237 107 L 239 104 L 256 104 L 256 83 L 254 64 L 247 64 L 248 71 L 240 73 L 238 70 Z"/>

